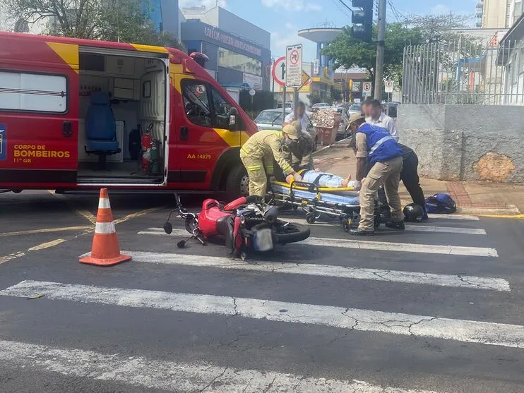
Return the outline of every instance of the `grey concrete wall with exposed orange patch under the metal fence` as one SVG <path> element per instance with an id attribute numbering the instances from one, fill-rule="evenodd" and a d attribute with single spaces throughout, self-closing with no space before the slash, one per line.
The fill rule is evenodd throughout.
<path id="1" fill-rule="evenodd" d="M 403 104 L 397 127 L 422 176 L 524 183 L 523 107 Z"/>

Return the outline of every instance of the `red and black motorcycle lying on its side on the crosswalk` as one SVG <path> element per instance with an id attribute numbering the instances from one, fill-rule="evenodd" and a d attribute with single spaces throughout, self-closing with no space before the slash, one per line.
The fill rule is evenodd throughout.
<path id="1" fill-rule="evenodd" d="M 242 259 L 251 250 L 265 253 L 273 250 L 276 244 L 303 241 L 310 234 L 304 225 L 278 219 L 278 207 L 266 205 L 253 196 L 238 198 L 227 205 L 206 199 L 201 212 L 194 214 L 182 207 L 177 195 L 177 208 L 169 213 L 164 224 L 167 234 L 173 231 L 169 219 L 175 212 L 185 220 L 186 230 L 191 234 L 187 240 L 177 243 L 179 248 L 184 248 L 193 238 L 206 245 L 210 238 L 222 236 L 225 246 Z"/>

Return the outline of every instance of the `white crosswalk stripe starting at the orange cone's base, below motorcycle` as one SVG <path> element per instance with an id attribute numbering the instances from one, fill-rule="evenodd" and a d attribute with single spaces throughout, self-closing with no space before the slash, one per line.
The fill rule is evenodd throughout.
<path id="1" fill-rule="evenodd" d="M 158 263 L 193 267 L 214 267 L 225 270 L 248 270 L 252 272 L 272 272 L 280 274 L 303 274 L 343 279 L 367 279 L 383 282 L 403 282 L 435 286 L 453 286 L 458 288 L 487 289 L 493 291 L 511 291 L 505 279 L 475 276 L 454 276 L 451 274 L 433 274 L 420 272 L 402 272 L 398 270 L 378 270 L 350 266 L 314 265 L 292 262 L 256 262 L 246 263 L 233 258 L 210 257 L 203 255 L 148 253 L 143 251 L 122 251 L 131 255 L 136 262 Z"/>

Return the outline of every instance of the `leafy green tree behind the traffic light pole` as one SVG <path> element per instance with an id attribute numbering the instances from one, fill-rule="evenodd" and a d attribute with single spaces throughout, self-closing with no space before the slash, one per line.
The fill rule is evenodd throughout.
<path id="1" fill-rule="evenodd" d="M 398 69 L 398 65 L 402 64 L 406 44 L 415 45 L 422 42 L 423 37 L 419 30 L 407 28 L 402 23 L 389 23 L 386 26 L 384 44 L 384 74 L 393 73 Z M 323 54 L 335 61 L 335 68 L 365 68 L 369 78 L 375 78 L 376 45 L 355 40 L 349 26 L 343 28 L 343 32 L 323 49 Z"/>

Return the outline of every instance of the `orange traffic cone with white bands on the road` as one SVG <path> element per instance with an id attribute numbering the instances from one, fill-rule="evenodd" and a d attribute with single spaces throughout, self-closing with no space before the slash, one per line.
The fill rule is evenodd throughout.
<path id="1" fill-rule="evenodd" d="M 91 255 L 81 258 L 81 263 L 97 266 L 113 266 L 120 262 L 131 260 L 129 255 L 120 253 L 117 230 L 114 229 L 113 213 L 109 205 L 107 188 L 100 190 L 98 201 L 97 223 Z"/>

